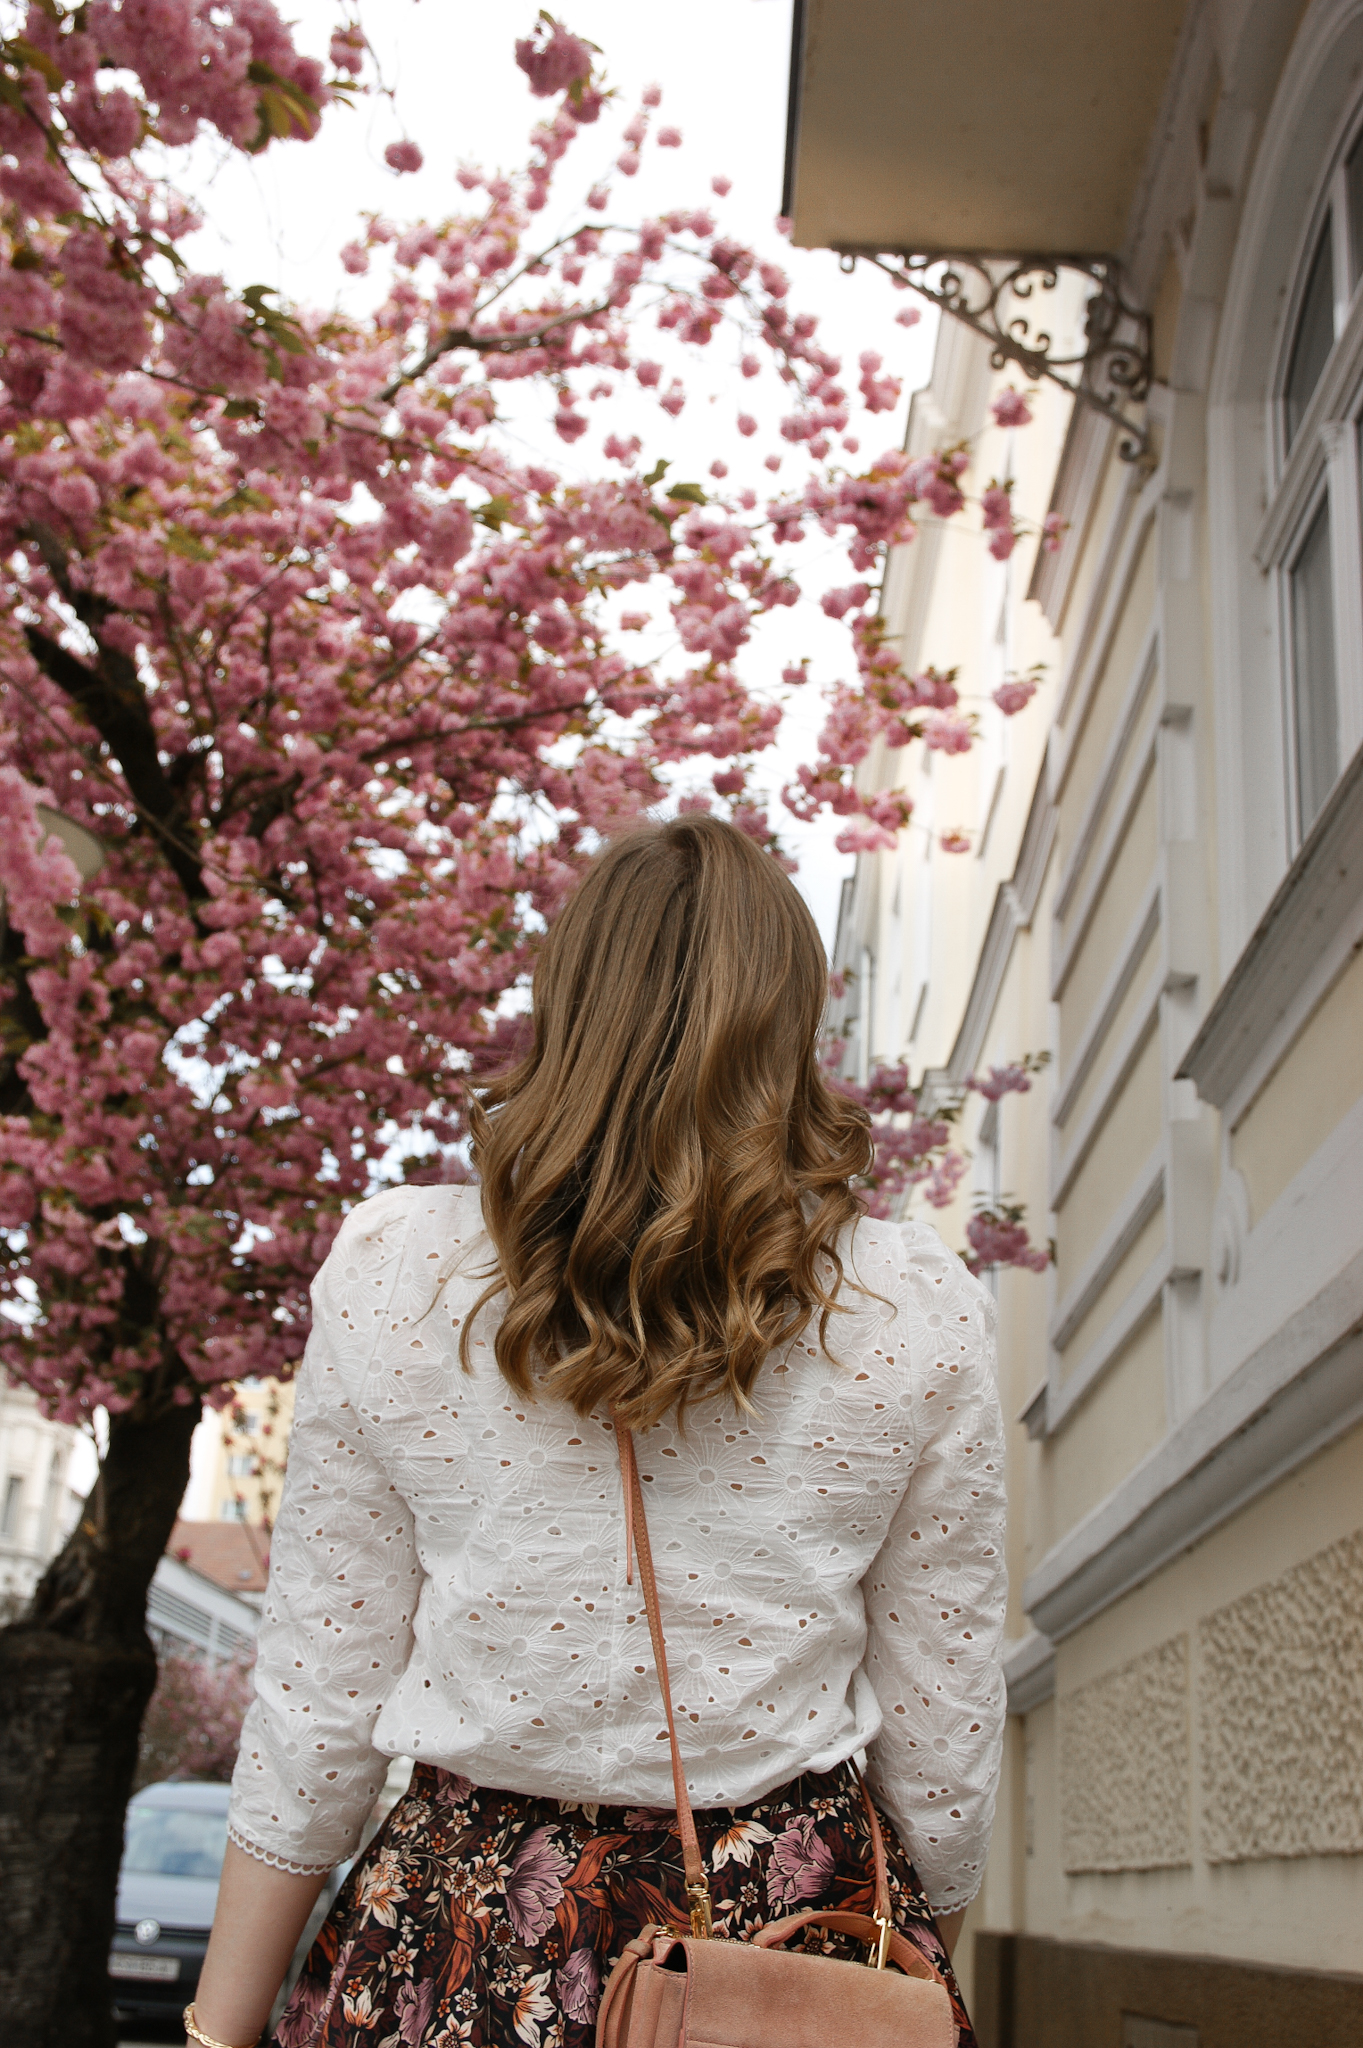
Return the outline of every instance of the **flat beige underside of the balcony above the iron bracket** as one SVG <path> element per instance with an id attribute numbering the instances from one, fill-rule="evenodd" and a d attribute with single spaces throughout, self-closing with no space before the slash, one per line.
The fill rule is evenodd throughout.
<path id="1" fill-rule="evenodd" d="M 1191 0 L 796 0 L 798 248 L 1117 256 Z"/>

